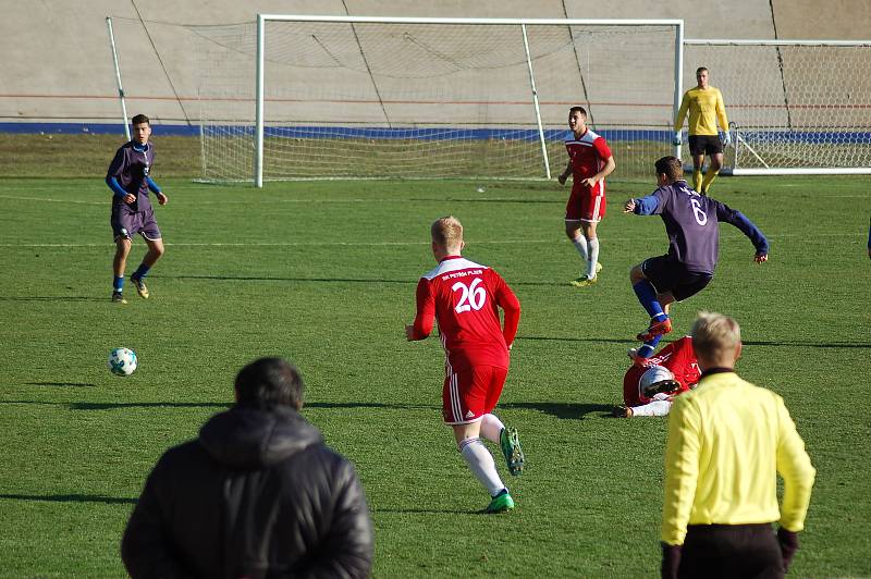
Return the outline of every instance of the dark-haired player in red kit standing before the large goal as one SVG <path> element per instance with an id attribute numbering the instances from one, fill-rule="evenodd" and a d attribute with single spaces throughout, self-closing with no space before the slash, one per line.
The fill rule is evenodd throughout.
<path id="1" fill-rule="evenodd" d="M 572 285 L 585 287 L 598 281 L 596 274 L 602 269 L 596 225 L 605 217 L 605 177 L 616 164 L 605 139 L 587 128 L 584 107 L 568 110 L 568 128 L 565 138 L 568 164 L 557 178 L 565 185 L 572 175 L 572 195 L 565 206 L 565 234 L 587 262 L 587 272 Z"/>

